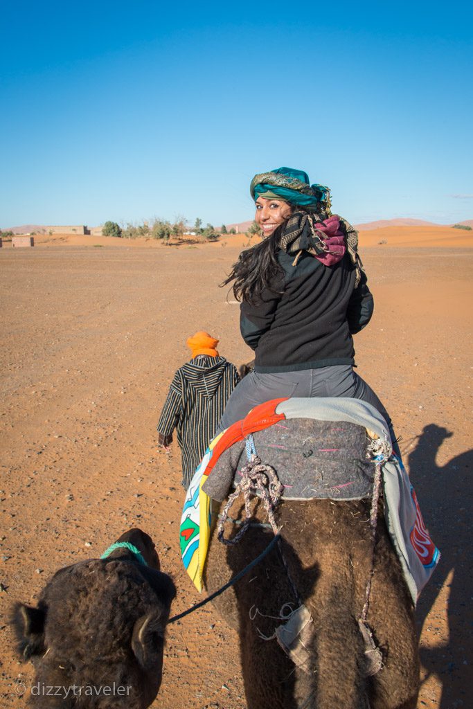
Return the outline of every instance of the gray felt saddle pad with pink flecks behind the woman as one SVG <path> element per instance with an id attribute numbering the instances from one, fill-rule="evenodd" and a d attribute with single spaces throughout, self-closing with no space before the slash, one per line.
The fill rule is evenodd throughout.
<path id="1" fill-rule="evenodd" d="M 256 454 L 284 485 L 284 498 L 359 500 L 369 496 L 374 464 L 366 453 L 366 429 L 348 421 L 289 418 L 253 435 Z M 222 501 L 241 479 L 245 440 L 218 459 L 204 491 Z"/>

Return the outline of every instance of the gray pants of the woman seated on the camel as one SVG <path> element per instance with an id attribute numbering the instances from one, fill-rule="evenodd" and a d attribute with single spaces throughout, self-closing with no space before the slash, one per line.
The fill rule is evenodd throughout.
<path id="1" fill-rule="evenodd" d="M 350 364 L 337 364 L 335 367 L 320 369 L 302 369 L 300 372 L 280 372 L 278 374 L 247 374 L 233 389 L 228 399 L 223 416 L 218 424 L 217 433 L 245 418 L 257 404 L 273 398 L 291 396 L 347 396 L 367 401 L 384 417 L 391 434 L 394 452 L 399 454 L 391 418 L 374 391 Z M 400 455 L 400 454 L 399 454 Z"/>

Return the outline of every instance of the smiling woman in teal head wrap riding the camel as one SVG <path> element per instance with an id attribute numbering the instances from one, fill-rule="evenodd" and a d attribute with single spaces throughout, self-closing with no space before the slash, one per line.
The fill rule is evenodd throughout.
<path id="1" fill-rule="evenodd" d="M 230 396 L 218 431 L 272 398 L 347 396 L 382 413 L 394 442 L 386 409 L 353 370 L 352 335 L 373 313 L 356 231 L 330 212 L 330 190 L 302 170 L 257 174 L 250 192 L 263 240 L 240 254 L 223 285 L 233 281 L 241 301 L 255 369 Z"/>

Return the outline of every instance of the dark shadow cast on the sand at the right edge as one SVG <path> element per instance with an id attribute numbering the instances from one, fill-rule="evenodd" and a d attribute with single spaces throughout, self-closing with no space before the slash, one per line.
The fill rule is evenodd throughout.
<path id="1" fill-rule="evenodd" d="M 473 451 L 467 451 L 438 466 L 440 446 L 453 432 L 430 423 L 418 437 L 407 462 L 425 525 L 442 557 L 417 606 L 419 630 L 426 628 L 431 647 L 421 647 L 425 680 L 435 675 L 443 690 L 440 709 L 469 705 L 469 667 L 472 642 L 469 635 L 471 605 L 469 559 L 472 558 L 471 470 Z M 441 589 L 447 586 L 447 637 L 440 641 L 440 622 L 445 599 L 435 608 Z M 445 593 L 445 589 L 443 591 Z M 445 637 L 445 632 L 444 632 Z"/>

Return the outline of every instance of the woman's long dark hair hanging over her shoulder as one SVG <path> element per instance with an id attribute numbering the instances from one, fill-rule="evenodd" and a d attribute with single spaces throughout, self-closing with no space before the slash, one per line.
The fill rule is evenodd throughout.
<path id="1" fill-rule="evenodd" d="M 260 299 L 264 289 L 272 288 L 274 291 L 274 279 L 282 273 L 277 260 L 281 231 L 282 226 L 279 226 L 260 244 L 242 251 L 230 274 L 221 283 L 221 286 L 226 286 L 235 281 L 233 295 L 237 301 L 253 304 Z"/>

